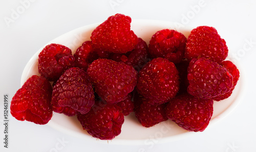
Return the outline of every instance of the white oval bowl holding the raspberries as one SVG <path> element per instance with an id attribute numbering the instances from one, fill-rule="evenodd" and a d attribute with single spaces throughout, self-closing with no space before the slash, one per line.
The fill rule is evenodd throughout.
<path id="1" fill-rule="evenodd" d="M 90 40 L 91 32 L 99 24 L 100 23 L 87 25 L 72 30 L 49 41 L 45 46 L 52 43 L 61 44 L 69 47 L 74 54 L 74 52 L 82 44 L 82 42 Z M 159 20 L 132 20 L 131 24 L 131 30 L 133 30 L 138 37 L 141 37 L 143 40 L 145 40 L 147 44 L 150 41 L 152 35 L 162 29 L 175 29 L 178 32 L 183 33 L 186 37 L 192 30 L 192 28 L 189 27 L 184 27 L 172 22 Z M 39 49 L 28 61 L 20 81 L 21 86 L 32 75 L 39 75 L 37 70 L 38 54 L 45 46 L 42 46 L 41 49 Z M 208 127 L 216 122 L 219 122 L 225 116 L 230 114 L 230 112 L 232 112 L 241 101 L 243 94 L 244 76 L 241 72 L 240 80 L 238 81 L 238 84 L 236 86 L 236 89 L 234 89 L 233 94 L 228 99 L 225 99 L 225 101 L 223 100 L 220 102 L 214 102 L 214 114 L 212 115 Z M 161 122 L 160 124 L 157 124 L 150 128 L 145 128 L 137 121 L 134 113 L 125 117 L 124 123 L 122 125 L 121 134 L 112 141 L 97 140 L 96 138 L 92 138 L 91 135 L 89 135 L 86 131 L 82 129 L 82 126 L 78 122 L 76 116 L 68 117 L 63 114 L 54 113 L 48 125 L 62 133 L 69 134 L 83 140 L 118 145 L 151 145 L 152 143 L 166 143 L 186 138 L 190 135 L 198 134 L 185 131 L 170 120 Z"/>

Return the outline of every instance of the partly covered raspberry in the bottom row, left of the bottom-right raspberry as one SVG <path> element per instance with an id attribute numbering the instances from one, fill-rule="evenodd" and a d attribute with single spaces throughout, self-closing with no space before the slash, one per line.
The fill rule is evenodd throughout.
<path id="1" fill-rule="evenodd" d="M 151 127 L 168 120 L 165 115 L 166 104 L 150 104 L 142 95 L 135 93 L 135 116 L 144 127 Z"/>

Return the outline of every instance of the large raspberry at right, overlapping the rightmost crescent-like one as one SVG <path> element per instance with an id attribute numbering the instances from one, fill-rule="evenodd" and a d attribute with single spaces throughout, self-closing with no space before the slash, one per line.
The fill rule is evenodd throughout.
<path id="1" fill-rule="evenodd" d="M 187 92 L 202 99 L 225 94 L 233 86 L 232 75 L 226 68 L 203 57 L 190 61 L 187 79 Z"/>

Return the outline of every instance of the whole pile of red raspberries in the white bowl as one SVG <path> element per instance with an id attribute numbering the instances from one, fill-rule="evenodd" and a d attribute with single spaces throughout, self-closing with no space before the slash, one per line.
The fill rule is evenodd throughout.
<path id="1" fill-rule="evenodd" d="M 225 40 L 200 26 L 187 38 L 163 29 L 146 44 L 131 21 L 108 17 L 74 54 L 61 44 L 42 49 L 40 75 L 16 92 L 11 115 L 36 124 L 47 124 L 53 112 L 76 115 L 101 140 L 118 136 L 130 113 L 144 127 L 170 119 L 187 131 L 204 131 L 214 102 L 228 98 L 239 80 L 237 67 L 225 60 Z"/>

